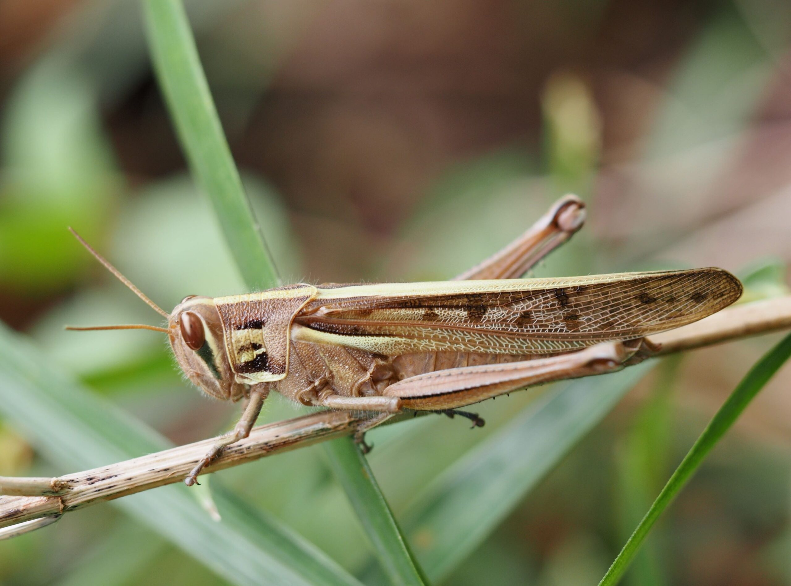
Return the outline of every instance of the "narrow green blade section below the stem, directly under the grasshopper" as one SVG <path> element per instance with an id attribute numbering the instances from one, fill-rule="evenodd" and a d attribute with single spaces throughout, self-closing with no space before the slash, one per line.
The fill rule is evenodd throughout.
<path id="1" fill-rule="evenodd" d="M 428 584 L 354 440 L 341 437 L 325 442 L 324 449 L 392 584 Z"/>

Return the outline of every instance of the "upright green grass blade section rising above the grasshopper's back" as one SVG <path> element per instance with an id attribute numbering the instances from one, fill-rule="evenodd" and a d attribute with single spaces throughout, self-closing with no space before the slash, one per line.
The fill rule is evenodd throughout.
<path id="1" fill-rule="evenodd" d="M 209 195 L 250 289 L 279 282 L 233 162 L 180 0 L 144 0 L 157 79 L 195 181 Z"/>

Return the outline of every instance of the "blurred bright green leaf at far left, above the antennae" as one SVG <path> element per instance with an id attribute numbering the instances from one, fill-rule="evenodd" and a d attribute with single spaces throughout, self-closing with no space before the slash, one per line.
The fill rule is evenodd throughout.
<path id="1" fill-rule="evenodd" d="M 55 55 L 17 85 L 3 118 L 0 283 L 44 296 L 88 264 L 64 226 L 97 240 L 123 180 L 89 79 Z"/>

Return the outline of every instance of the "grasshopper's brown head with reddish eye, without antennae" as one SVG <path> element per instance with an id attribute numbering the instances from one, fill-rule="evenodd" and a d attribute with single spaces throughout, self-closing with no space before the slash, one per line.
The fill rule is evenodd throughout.
<path id="1" fill-rule="evenodd" d="M 225 351 L 220 314 L 210 297 L 185 297 L 168 317 L 170 346 L 184 374 L 207 395 L 237 400 L 247 385 L 237 383 Z"/>

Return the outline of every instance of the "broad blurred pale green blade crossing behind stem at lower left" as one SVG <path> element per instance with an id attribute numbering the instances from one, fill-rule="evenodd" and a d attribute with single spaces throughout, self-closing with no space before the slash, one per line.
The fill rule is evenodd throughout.
<path id="1" fill-rule="evenodd" d="M 52 368 L 44 353 L 2 326 L 0 414 L 69 471 L 171 447 L 153 429 Z M 210 519 L 186 486 L 147 490 L 114 505 L 233 584 L 359 586 L 316 546 L 217 486 L 214 500 L 221 522 Z"/>

